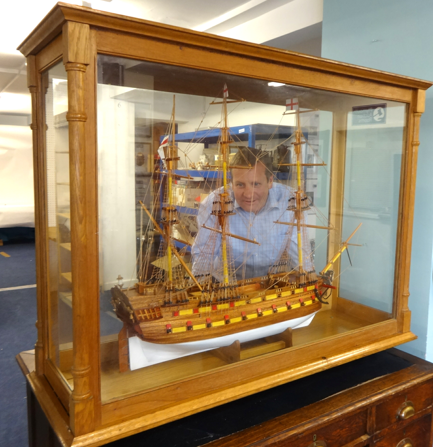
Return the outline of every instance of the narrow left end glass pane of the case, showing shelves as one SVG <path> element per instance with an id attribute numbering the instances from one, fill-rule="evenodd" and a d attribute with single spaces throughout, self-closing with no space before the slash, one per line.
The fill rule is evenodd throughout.
<path id="1" fill-rule="evenodd" d="M 71 210 L 67 75 L 63 63 L 42 75 L 46 88 L 50 359 L 72 387 Z"/>

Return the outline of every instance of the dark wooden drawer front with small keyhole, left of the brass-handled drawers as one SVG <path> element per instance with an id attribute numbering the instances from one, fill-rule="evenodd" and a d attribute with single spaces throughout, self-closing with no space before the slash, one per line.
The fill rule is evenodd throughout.
<path id="1" fill-rule="evenodd" d="M 275 436 L 275 441 L 266 439 L 267 447 L 310 447 L 317 443 L 317 447 L 344 447 L 355 439 L 366 436 L 367 410 L 355 413 L 351 416 L 334 419 L 330 424 L 320 426 L 317 429 L 305 431 L 298 435 L 280 433 Z M 325 444 L 324 444 L 325 443 Z M 254 444 L 260 446 L 261 443 Z M 357 445 L 357 444 L 356 444 Z M 362 443 L 362 445 L 365 445 Z"/>

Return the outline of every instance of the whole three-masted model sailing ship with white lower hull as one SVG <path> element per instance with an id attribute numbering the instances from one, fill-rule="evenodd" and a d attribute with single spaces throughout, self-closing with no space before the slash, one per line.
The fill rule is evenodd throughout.
<path id="1" fill-rule="evenodd" d="M 147 271 L 149 259 L 143 261 L 140 251 L 140 281 L 135 287 L 128 289 L 118 286 L 111 289 L 116 314 L 128 326 L 130 334 L 136 335 L 144 342 L 147 360 L 143 366 L 229 346 L 235 341 L 247 342 L 275 335 L 288 328 L 309 324 L 322 304 L 328 304 L 324 296 L 329 288 L 335 288 L 332 286 L 332 266 L 357 230 L 317 275 L 307 228 L 332 228 L 307 224 L 306 211 L 310 209 L 310 204 L 303 190 L 303 166 L 311 164 L 304 164 L 302 160 L 302 146 L 307 140 L 301 131 L 300 112 L 297 109 L 293 112 L 296 118 L 292 142 L 295 160 L 290 164 L 295 167 L 296 187 L 291 191 L 287 203 L 287 210 L 291 211 L 292 219 L 290 222 L 274 222 L 277 225 L 288 225 L 289 231 L 267 275 L 236 279 L 234 260 L 231 257 L 231 240 L 235 238 L 251 244 L 258 242 L 230 232 L 230 219 L 235 211 L 228 173 L 231 168 L 239 166 L 231 166 L 229 162 L 229 145 L 233 140 L 227 122 L 227 103 L 239 101 L 228 100 L 227 96 L 227 87 L 224 86 L 223 101 L 211 103 L 222 105 L 219 157 L 218 164 L 214 166 L 219 172 L 219 185 L 214 191 L 211 211 L 214 226 L 205 227 L 214 235 L 218 235 L 211 239 L 213 244 L 220 246 L 211 247 L 201 253 L 204 261 L 194 264 L 193 269 L 189 268 L 175 246 L 175 241 L 191 244 L 173 236 L 173 228 L 179 225 L 173 198 L 173 180 L 182 177 L 173 172 L 174 163 L 179 160 L 175 145 L 173 97 L 169 127 L 171 135 L 163 141 L 167 144 L 165 169 L 164 172 L 157 171 L 166 176 L 167 180 L 166 200 L 162 206 L 160 221 L 162 228 L 152 212 L 142 205 L 151 224 L 161 236 L 158 258 L 151 263 L 154 266 L 151 278 L 146 279 L 143 271 Z M 250 168 L 253 167 L 246 167 Z M 296 232 L 296 237 L 293 232 Z M 294 240 L 297 241 L 298 263 L 293 268 L 289 245 L 293 244 Z M 216 279 L 218 275 L 212 272 L 211 257 L 215 249 L 221 253 L 219 279 Z M 147 266 L 143 267 L 146 262 Z"/>

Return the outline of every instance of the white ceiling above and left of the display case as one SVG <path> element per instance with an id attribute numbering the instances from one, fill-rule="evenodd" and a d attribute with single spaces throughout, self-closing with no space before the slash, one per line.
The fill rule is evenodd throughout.
<path id="1" fill-rule="evenodd" d="M 317 25 L 315 27 L 311 25 L 319 24 L 323 15 L 323 0 L 88 1 L 94 9 L 206 31 L 248 42 L 272 42 L 274 46 L 295 51 L 296 48 L 302 48 L 302 51 L 310 54 L 317 54 L 318 48 L 316 36 L 318 28 Z M 86 4 L 82 0 L 66 0 L 66 3 Z M 16 48 L 54 4 L 52 0 L 1 2 L 0 115 L 30 113 L 25 59 Z M 301 29 L 306 30 L 299 33 L 298 30 Z M 294 39 L 297 40 L 296 48 L 290 47 L 292 35 L 296 36 Z M 299 46 L 298 41 L 301 35 L 306 43 Z M 311 39 L 315 39 L 315 49 L 310 51 L 308 42 Z M 13 98 L 11 94 L 17 95 L 16 101 L 11 99 Z"/>

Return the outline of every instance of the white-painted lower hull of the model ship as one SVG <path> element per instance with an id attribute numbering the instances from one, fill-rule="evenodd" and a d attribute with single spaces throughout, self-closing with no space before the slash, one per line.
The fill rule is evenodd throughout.
<path id="1" fill-rule="evenodd" d="M 200 352 L 230 346 L 236 340 L 240 343 L 250 342 L 258 338 L 270 337 L 284 332 L 288 328 L 297 329 L 308 326 L 315 314 L 310 313 L 305 316 L 281 321 L 279 323 L 249 329 L 243 332 L 232 333 L 222 337 L 208 338 L 194 342 L 160 344 L 141 340 L 139 337 L 129 338 L 129 361 L 130 369 L 135 370 L 157 363 L 167 362 L 175 358 L 187 355 L 198 354 Z"/>

